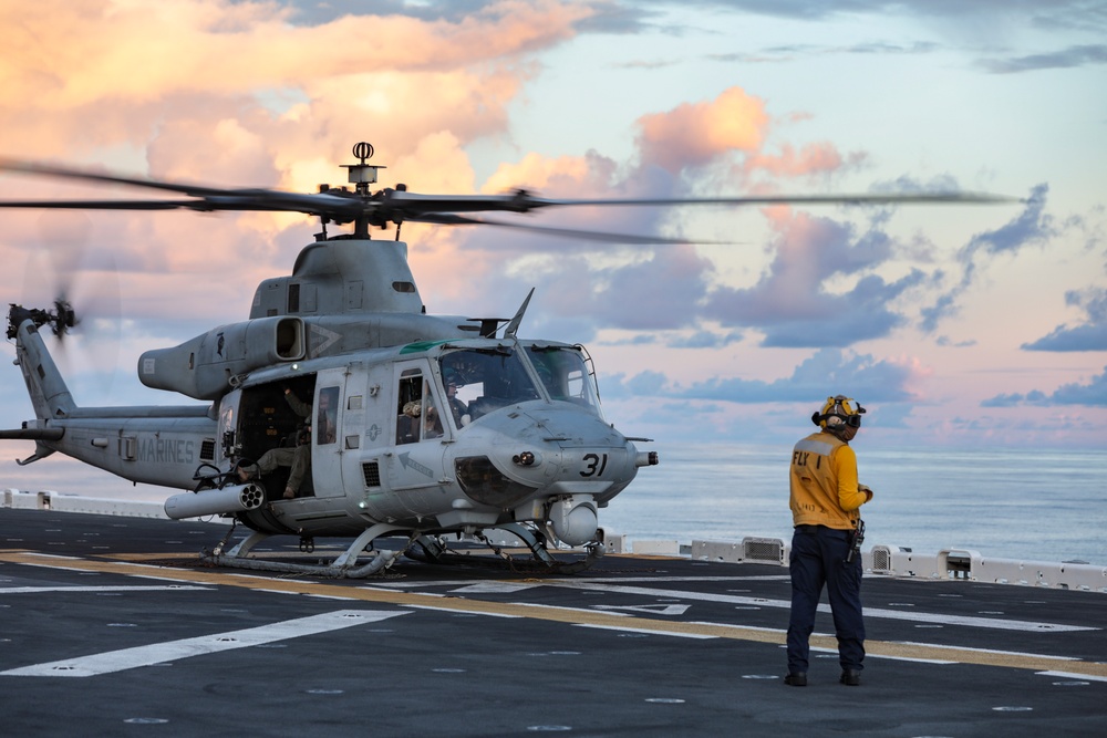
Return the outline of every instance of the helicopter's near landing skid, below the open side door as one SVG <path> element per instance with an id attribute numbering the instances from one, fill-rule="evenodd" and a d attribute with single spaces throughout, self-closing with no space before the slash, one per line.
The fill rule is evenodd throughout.
<path id="1" fill-rule="evenodd" d="M 254 547 L 261 541 L 271 538 L 272 533 L 255 531 L 230 550 L 225 551 L 227 541 L 230 540 L 231 533 L 235 532 L 234 527 L 231 527 L 230 531 L 227 532 L 227 536 L 224 537 L 223 541 L 220 541 L 213 551 L 200 552 L 200 560 L 204 563 L 217 567 L 230 567 L 234 569 L 275 571 L 289 574 L 310 574 L 313 576 L 328 576 L 332 579 L 364 579 L 390 568 L 393 563 L 395 563 L 396 559 L 400 558 L 400 554 L 403 553 L 403 551 L 373 551 L 374 555 L 369 562 L 360 567 L 356 565 L 358 557 L 365 551 L 365 547 L 369 545 L 373 539 L 379 536 L 383 536 L 384 533 L 392 532 L 393 530 L 392 526 L 377 523 L 376 526 L 373 526 L 362 532 L 362 534 L 350 544 L 350 548 L 348 548 L 331 563 L 302 564 L 288 561 L 272 561 L 270 559 L 259 559 L 249 555 Z M 314 550 L 314 543 L 311 539 L 301 539 L 300 550 L 310 553 Z"/>

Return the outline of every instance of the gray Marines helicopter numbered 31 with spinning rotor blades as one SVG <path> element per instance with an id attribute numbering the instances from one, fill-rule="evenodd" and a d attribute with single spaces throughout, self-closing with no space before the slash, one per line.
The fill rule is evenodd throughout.
<path id="1" fill-rule="evenodd" d="M 348 187 L 318 193 L 224 189 L 0 162 L 0 171 L 126 185 L 176 199 L 0 201 L 8 208 L 296 211 L 320 218 L 292 273 L 267 279 L 249 319 L 214 328 L 178 346 L 147 351 L 138 378 L 203 404 L 79 406 L 40 329 L 61 336 L 76 324 L 63 299 L 52 308 L 12 304 L 8 337 L 35 419 L 0 432 L 34 441 L 19 461 L 55 451 L 135 482 L 186 490 L 169 497 L 170 518 L 223 516 L 249 528 L 228 532 L 208 561 L 247 569 L 368 576 L 406 552 L 445 560 L 449 536 L 521 540 L 540 569 L 576 571 L 604 550 L 599 510 L 642 467 L 658 464 L 604 420 L 584 347 L 521 339 L 530 295 L 510 320 L 431 315 L 399 230 L 407 221 L 526 228 L 566 238 L 664 243 L 622 236 L 479 219 L 571 206 L 995 202 L 965 193 L 767 196 L 711 199 L 548 199 L 506 195 L 421 195 L 404 185 L 373 191 L 382 167 L 373 148 L 353 148 Z M 327 233 L 327 226 L 352 232 Z M 371 229 L 396 226 L 396 240 Z M 531 290 L 532 293 L 532 290 Z M 299 402 L 296 402 L 299 399 Z M 304 417 L 306 416 L 306 417 Z M 310 433 L 304 433 L 304 423 Z M 299 433 L 298 433 L 299 432 Z M 299 439 L 299 440 L 298 440 Z M 267 453 L 273 451 L 267 461 Z M 281 457 L 281 460 L 272 461 Z M 302 477 L 302 481 L 296 482 Z M 251 553 L 271 536 L 353 538 L 327 564 L 266 561 Z M 406 539 L 377 550 L 379 539 Z M 550 552 L 571 548 L 569 562 Z M 497 548 L 497 551 L 510 558 Z M 580 553 L 582 552 L 582 554 Z M 362 560 L 361 562 L 359 560 Z M 521 562 L 514 561 L 514 564 Z"/>

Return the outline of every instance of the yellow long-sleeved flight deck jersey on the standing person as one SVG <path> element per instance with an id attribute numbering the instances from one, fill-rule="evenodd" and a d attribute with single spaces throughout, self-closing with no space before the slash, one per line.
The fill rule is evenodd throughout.
<path id="1" fill-rule="evenodd" d="M 852 530 L 872 492 L 858 489 L 857 455 L 831 433 L 813 433 L 792 453 L 792 518 L 796 526 Z"/>

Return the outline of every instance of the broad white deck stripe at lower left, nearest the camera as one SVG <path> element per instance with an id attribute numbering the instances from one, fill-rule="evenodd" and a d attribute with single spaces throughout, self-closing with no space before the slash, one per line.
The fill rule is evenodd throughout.
<path id="1" fill-rule="evenodd" d="M 112 672 L 122 672 L 128 668 L 137 668 L 139 666 L 189 658 L 192 656 L 203 656 L 221 651 L 247 648 L 276 641 L 287 641 L 303 635 L 338 631 L 353 625 L 375 623 L 393 615 L 403 614 L 406 613 L 339 610 L 337 612 L 323 613 L 322 615 L 299 617 L 297 620 L 288 620 L 281 623 L 272 623 L 242 631 L 216 633 L 196 638 L 154 643 L 148 646 L 136 646 L 134 648 L 110 651 L 102 654 L 79 656 L 76 658 L 46 664 L 34 664 L 32 666 L 0 672 L 0 676 L 96 676 Z"/>

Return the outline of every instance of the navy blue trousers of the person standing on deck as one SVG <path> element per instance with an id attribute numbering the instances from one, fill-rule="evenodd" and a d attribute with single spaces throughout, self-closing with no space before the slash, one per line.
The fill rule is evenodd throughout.
<path id="1" fill-rule="evenodd" d="M 849 531 L 796 526 L 792 537 L 792 619 L 788 621 L 788 673 L 807 672 L 815 613 L 826 585 L 838 636 L 838 662 L 861 671 L 865 621 L 861 619 L 861 557 L 846 563 Z"/>

